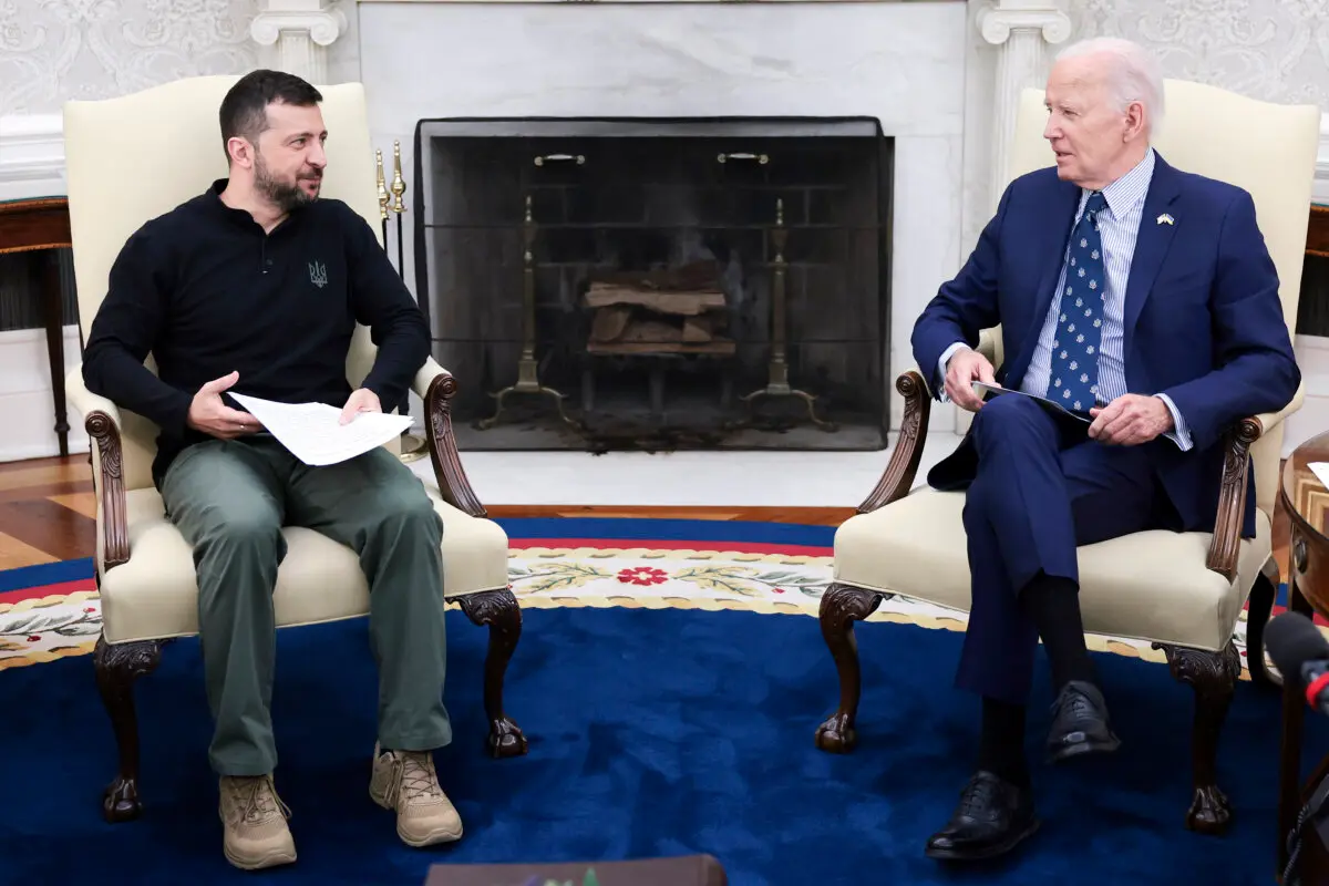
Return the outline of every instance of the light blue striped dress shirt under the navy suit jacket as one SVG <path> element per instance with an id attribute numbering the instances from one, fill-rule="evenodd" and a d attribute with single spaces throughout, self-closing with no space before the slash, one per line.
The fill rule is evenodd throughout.
<path id="1" fill-rule="evenodd" d="M 1122 351 L 1123 317 L 1126 302 L 1126 283 L 1131 276 L 1131 259 L 1135 258 L 1135 240 L 1140 232 L 1140 217 L 1144 214 L 1144 195 L 1150 190 L 1154 178 L 1154 149 L 1144 154 L 1135 169 L 1103 189 L 1103 198 L 1107 201 L 1107 211 L 1098 215 L 1098 230 L 1103 239 L 1103 267 L 1107 271 L 1107 300 L 1104 304 L 1102 341 L 1098 352 L 1098 389 L 1103 402 L 1128 393 L 1126 388 L 1126 361 Z M 1092 191 L 1080 189 L 1079 209 L 1075 211 L 1075 223 L 1079 223 Z M 1071 226 L 1074 227 L 1074 224 Z M 1053 302 L 1047 306 L 1047 319 L 1043 321 L 1043 331 L 1038 336 L 1038 347 L 1029 363 L 1029 371 L 1021 383 L 1019 389 L 1025 393 L 1047 396 L 1047 383 L 1050 381 L 1053 341 L 1057 337 L 1057 320 L 1061 316 L 1062 292 L 1066 288 L 1066 267 L 1070 260 L 1070 242 L 1066 243 L 1066 252 L 1062 256 L 1062 272 L 1053 291 Z M 945 380 L 945 367 L 950 356 L 965 347 L 956 343 L 941 355 L 941 376 Z M 1176 404 L 1167 395 L 1159 395 L 1172 413 L 1174 430 L 1166 436 L 1183 452 L 1191 449 L 1191 432 L 1185 426 L 1185 420 L 1177 412 Z"/>

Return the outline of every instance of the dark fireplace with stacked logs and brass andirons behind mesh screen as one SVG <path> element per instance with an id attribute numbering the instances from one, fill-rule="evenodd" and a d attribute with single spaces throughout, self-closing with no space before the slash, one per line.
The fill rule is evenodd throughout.
<path id="1" fill-rule="evenodd" d="M 425 120 L 413 147 L 462 449 L 885 446 L 876 120 Z"/>

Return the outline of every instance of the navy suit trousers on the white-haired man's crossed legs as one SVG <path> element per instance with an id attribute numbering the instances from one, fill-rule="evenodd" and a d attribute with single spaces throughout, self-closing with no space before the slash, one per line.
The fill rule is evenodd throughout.
<path id="1" fill-rule="evenodd" d="M 973 602 L 956 683 L 1025 704 L 1038 631 L 1021 592 L 1039 574 L 1079 580 L 1076 546 L 1156 529 L 1168 505 L 1143 446 L 1090 440 L 1027 397 L 998 396 L 970 428 L 965 499 Z M 1171 521 L 1168 521 L 1171 522 Z"/>

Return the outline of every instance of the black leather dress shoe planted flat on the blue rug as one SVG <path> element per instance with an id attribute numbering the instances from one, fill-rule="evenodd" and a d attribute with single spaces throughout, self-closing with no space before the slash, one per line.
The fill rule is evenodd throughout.
<path id="1" fill-rule="evenodd" d="M 1034 793 L 979 769 L 946 826 L 928 840 L 929 858 L 979 861 L 1014 849 L 1038 830 Z"/>

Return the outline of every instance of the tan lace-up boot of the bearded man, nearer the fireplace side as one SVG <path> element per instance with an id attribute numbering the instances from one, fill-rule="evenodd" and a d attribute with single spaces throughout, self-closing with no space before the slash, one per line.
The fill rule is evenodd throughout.
<path id="1" fill-rule="evenodd" d="M 408 846 L 461 838 L 461 816 L 439 786 L 429 751 L 388 751 L 373 745 L 369 796 L 397 813 L 397 837 Z"/>

